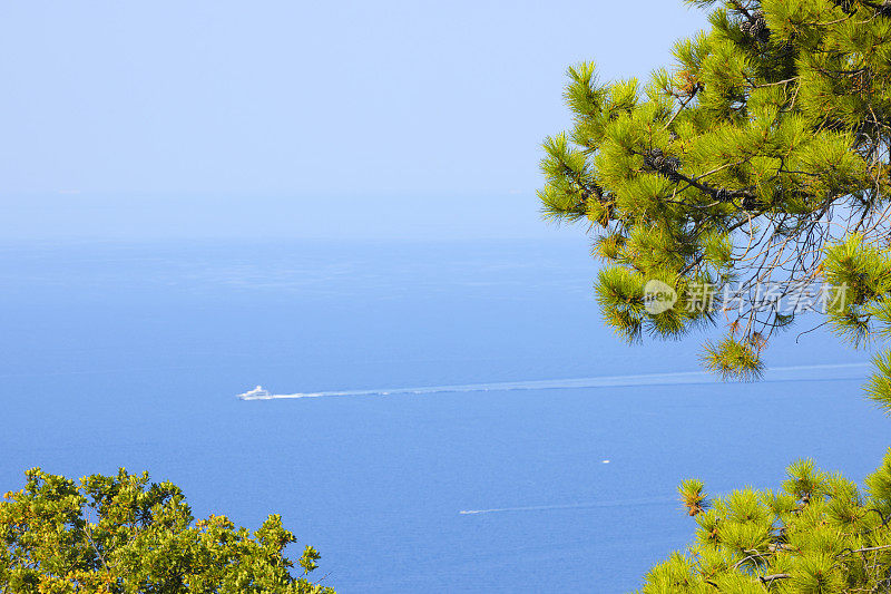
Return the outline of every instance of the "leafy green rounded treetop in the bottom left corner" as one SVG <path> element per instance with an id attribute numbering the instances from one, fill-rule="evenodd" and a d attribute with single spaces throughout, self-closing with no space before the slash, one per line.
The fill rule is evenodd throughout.
<path id="1" fill-rule="evenodd" d="M 294 535 L 271 515 L 253 534 L 225 516 L 196 520 L 182 490 L 148 474 L 78 484 L 39 468 L 0 502 L 3 594 L 333 594 L 313 584 L 319 553 L 284 556 Z"/>

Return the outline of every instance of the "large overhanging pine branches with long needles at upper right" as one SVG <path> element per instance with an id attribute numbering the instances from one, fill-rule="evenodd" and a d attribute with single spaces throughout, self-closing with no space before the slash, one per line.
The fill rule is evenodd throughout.
<path id="1" fill-rule="evenodd" d="M 692 3 L 719 4 L 711 30 L 646 85 L 570 68 L 575 124 L 545 143 L 542 211 L 590 223 L 607 322 L 631 341 L 721 325 L 703 361 L 746 379 L 775 332 L 822 322 L 809 309 L 855 345 L 891 334 L 891 0 Z M 650 280 L 673 308 L 647 309 Z M 891 381 L 873 388 L 891 411 Z"/>

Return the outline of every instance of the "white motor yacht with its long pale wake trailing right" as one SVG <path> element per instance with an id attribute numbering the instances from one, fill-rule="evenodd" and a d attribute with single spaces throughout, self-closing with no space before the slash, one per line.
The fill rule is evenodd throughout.
<path id="1" fill-rule="evenodd" d="M 761 381 L 832 381 L 863 378 L 870 363 L 829 363 L 816 366 L 775 367 L 765 371 Z M 682 371 L 674 373 L 640 373 L 635 376 L 604 376 L 562 380 L 503 381 L 493 383 L 467 383 L 460 386 L 427 386 L 421 388 L 390 388 L 376 390 L 342 390 L 327 392 L 256 393 L 252 390 L 238 395 L 242 400 L 286 400 L 296 398 L 335 398 L 347 396 L 398 396 L 435 395 L 459 392 L 495 392 L 510 390 L 568 390 L 579 388 L 621 388 L 635 386 L 683 386 L 721 383 L 721 379 L 706 371 Z"/>

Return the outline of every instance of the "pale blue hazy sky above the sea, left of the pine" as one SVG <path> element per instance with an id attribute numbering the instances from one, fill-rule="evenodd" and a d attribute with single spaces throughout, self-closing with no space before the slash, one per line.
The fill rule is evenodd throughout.
<path id="1" fill-rule="evenodd" d="M 646 76 L 704 21 L 681 0 L 4 2 L 0 233 L 535 233 L 566 67 Z"/>

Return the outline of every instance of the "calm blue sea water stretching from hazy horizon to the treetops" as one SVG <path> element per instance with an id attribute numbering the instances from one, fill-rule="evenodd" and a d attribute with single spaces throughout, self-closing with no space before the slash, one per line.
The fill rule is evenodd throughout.
<path id="1" fill-rule="evenodd" d="M 623 592 L 689 541 L 684 478 L 723 493 L 803 456 L 858 480 L 878 465 L 888 421 L 830 372 L 234 397 L 697 369 L 695 338 L 617 341 L 595 274 L 566 240 L 2 245 L 0 491 L 33 466 L 147 469 L 199 516 L 281 513 L 347 594 Z M 771 363 L 865 359 L 794 339 Z"/>

